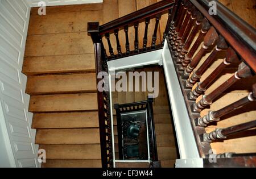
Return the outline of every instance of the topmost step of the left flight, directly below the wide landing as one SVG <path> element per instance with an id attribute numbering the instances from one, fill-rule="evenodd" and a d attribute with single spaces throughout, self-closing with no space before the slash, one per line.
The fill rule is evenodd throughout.
<path id="1" fill-rule="evenodd" d="M 73 72 L 95 72 L 94 53 L 25 57 L 22 69 L 27 76 Z"/>

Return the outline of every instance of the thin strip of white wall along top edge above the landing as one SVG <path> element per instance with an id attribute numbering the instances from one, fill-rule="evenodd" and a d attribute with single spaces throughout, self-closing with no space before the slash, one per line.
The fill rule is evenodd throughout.
<path id="1" fill-rule="evenodd" d="M 27 0 L 31 7 L 37 7 L 38 2 L 44 1 L 47 6 L 78 5 L 86 3 L 101 3 L 103 0 Z"/>

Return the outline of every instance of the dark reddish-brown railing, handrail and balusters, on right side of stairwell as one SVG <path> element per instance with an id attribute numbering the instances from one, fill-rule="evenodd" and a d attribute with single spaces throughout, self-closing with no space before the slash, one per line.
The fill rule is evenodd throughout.
<path id="1" fill-rule="evenodd" d="M 217 160 L 217 163 L 208 162 L 209 157 L 212 157 L 208 155 L 212 149 L 210 143 L 229 139 L 233 134 L 238 134 L 235 138 L 246 136 L 248 130 L 256 127 L 256 120 L 251 120 L 235 126 L 216 128 L 209 133 L 205 131 L 205 127 L 225 120 L 222 116 L 234 115 L 234 111 L 249 103 L 254 104 L 254 110 L 256 109 L 253 103 L 256 100 L 256 84 L 254 84 L 247 97 L 238 99 L 228 106 L 221 106 L 219 110 L 209 111 L 203 117 L 200 116 L 202 110 L 209 108 L 237 81 L 250 78 L 255 82 L 253 76 L 256 72 L 256 30 L 219 2 L 216 2 L 217 15 L 210 15 L 209 2 L 209 0 L 176 2 L 176 12 L 170 20 L 168 46 L 189 111 L 197 147 L 200 156 L 204 158 L 205 166 L 256 166 L 255 153 L 219 154 L 214 156 L 216 159 L 221 159 Z M 198 32 L 199 35 L 196 36 Z M 202 60 L 209 51 L 212 52 L 207 59 Z M 225 52 L 223 62 L 208 77 L 201 80 L 209 66 L 218 59 L 221 51 Z M 233 76 L 205 95 L 205 91 L 218 80 L 220 73 L 231 65 L 238 66 Z M 255 132 L 250 133 L 255 135 Z"/>

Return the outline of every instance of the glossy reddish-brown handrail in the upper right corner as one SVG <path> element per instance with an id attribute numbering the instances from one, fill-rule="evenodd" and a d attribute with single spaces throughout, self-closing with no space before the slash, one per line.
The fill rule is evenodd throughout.
<path id="1" fill-rule="evenodd" d="M 217 15 L 210 15 L 208 12 L 210 0 L 190 1 L 256 72 L 256 30 L 220 2 L 216 1 Z"/>

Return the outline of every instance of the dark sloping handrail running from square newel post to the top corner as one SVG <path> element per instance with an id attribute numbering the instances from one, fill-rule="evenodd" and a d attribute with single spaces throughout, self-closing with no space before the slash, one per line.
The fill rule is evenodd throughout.
<path id="1" fill-rule="evenodd" d="M 177 0 L 160 1 L 158 3 L 154 3 L 151 6 L 147 6 L 141 10 L 135 11 L 134 13 L 115 19 L 109 23 L 100 26 L 100 34 L 104 35 L 105 33 L 113 31 L 117 28 L 131 26 L 133 25 L 133 23 L 139 22 L 142 19 L 150 18 L 151 16 L 169 10 L 172 8 L 172 6 L 174 6 L 175 1 Z"/>

